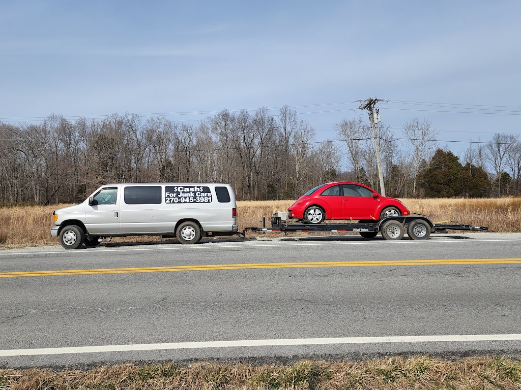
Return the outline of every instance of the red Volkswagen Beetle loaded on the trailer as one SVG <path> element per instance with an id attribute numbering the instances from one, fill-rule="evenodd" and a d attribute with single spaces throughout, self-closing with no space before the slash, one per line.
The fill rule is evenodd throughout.
<path id="1" fill-rule="evenodd" d="M 384 217 L 409 215 L 398 199 L 381 197 L 360 183 L 336 181 L 307 191 L 289 209 L 288 217 L 319 224 L 326 219 L 379 220 Z"/>

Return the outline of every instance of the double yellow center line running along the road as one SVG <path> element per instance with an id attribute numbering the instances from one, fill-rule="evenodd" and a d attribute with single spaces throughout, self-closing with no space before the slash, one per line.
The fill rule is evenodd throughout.
<path id="1" fill-rule="evenodd" d="M 263 268 L 307 268 L 307 267 L 377 267 L 411 265 L 454 265 L 454 264 L 514 264 L 521 263 L 521 258 L 468 258 L 468 259 L 433 259 L 433 260 L 386 260 L 353 262 L 299 262 L 299 263 L 248 263 L 185 265 L 173 267 L 139 268 L 100 268 L 100 269 L 63 269 L 51 271 L 0 272 L 0 278 L 26 276 L 61 276 L 61 275 L 103 275 L 135 274 L 140 272 L 204 271 L 224 269 L 263 269 Z"/>

